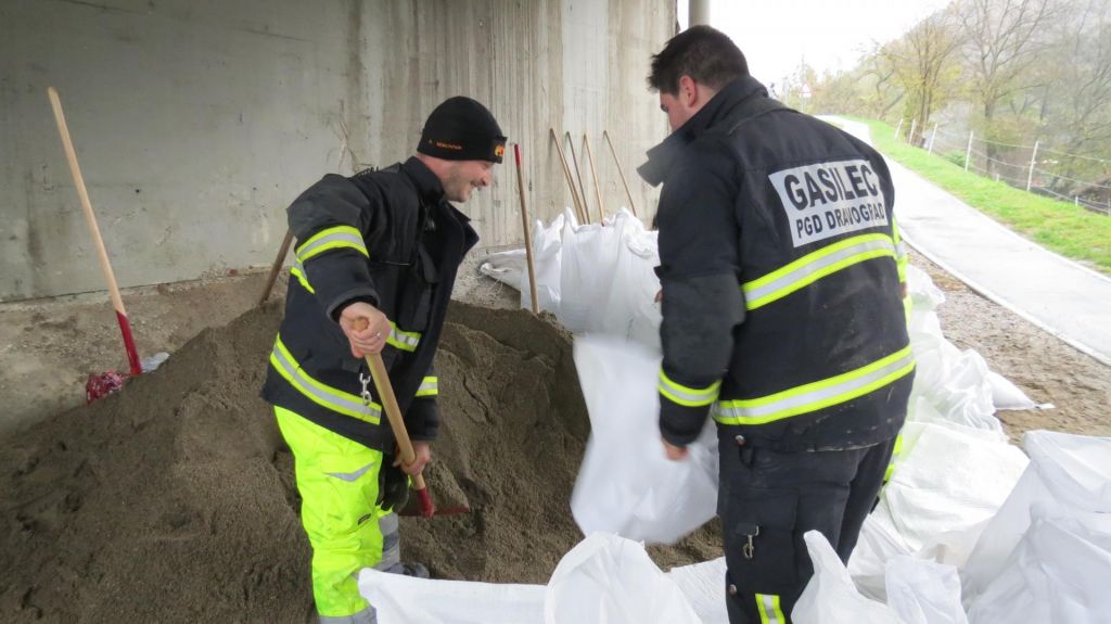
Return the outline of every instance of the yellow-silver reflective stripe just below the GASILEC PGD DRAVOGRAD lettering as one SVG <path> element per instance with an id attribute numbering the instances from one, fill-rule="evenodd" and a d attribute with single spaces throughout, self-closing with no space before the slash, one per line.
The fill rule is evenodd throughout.
<path id="1" fill-rule="evenodd" d="M 808 253 L 787 266 L 741 286 L 748 310 L 762 308 L 818 280 L 873 258 L 894 258 L 895 245 L 887 234 L 863 234 Z"/>

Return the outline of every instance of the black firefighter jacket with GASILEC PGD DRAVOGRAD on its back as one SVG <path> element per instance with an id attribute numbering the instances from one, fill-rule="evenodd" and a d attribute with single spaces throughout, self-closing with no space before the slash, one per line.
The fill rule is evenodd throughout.
<path id="1" fill-rule="evenodd" d="M 883 158 L 751 77 L 640 168 L 663 182 L 660 427 L 779 451 L 893 437 L 914 361 Z"/>

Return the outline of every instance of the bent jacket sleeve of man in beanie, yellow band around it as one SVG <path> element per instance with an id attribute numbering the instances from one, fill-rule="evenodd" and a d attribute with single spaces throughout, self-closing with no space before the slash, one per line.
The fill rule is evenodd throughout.
<path id="1" fill-rule="evenodd" d="M 291 272 L 304 276 L 329 318 L 336 320 L 351 301 L 378 305 L 366 241 L 384 228 L 380 198 L 368 198 L 347 178 L 329 174 L 287 212 L 297 238 Z"/>

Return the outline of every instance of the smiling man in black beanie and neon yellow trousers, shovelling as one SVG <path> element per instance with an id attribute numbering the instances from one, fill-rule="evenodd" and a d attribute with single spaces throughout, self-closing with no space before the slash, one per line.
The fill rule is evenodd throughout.
<path id="1" fill-rule="evenodd" d="M 376 621 L 356 582 L 363 567 L 428 575 L 400 562 L 394 512 L 431 456 L 440 422 L 432 358 L 456 272 L 478 242 L 449 202 L 489 187 L 504 149 L 486 107 L 451 98 L 429 115 L 417 155 L 326 175 L 289 207 L 297 258 L 262 396 L 294 455 L 322 623 Z M 394 440 L 368 383 L 373 353 L 389 369 L 412 464 L 393 466 Z"/>

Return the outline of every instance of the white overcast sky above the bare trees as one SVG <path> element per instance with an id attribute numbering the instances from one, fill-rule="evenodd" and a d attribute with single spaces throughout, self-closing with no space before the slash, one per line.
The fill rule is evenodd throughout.
<path id="1" fill-rule="evenodd" d="M 851 69 L 872 46 L 897 39 L 949 0 L 710 0 L 710 26 L 744 52 L 764 84 L 782 82 L 802 60 L 822 71 Z M 688 2 L 678 1 L 687 24 Z"/>

